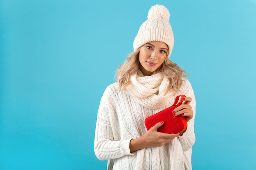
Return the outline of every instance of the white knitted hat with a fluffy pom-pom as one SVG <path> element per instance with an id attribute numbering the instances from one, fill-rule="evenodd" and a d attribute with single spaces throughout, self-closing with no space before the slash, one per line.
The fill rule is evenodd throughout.
<path id="1" fill-rule="evenodd" d="M 148 20 L 140 26 L 133 42 L 134 51 L 147 42 L 160 41 L 168 45 L 167 57 L 170 57 L 173 50 L 174 38 L 169 17 L 170 13 L 163 5 L 156 4 L 152 6 L 148 11 Z"/>

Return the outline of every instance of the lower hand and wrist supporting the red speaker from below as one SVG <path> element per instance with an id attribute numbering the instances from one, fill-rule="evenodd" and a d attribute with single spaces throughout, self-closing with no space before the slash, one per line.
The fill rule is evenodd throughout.
<path id="1" fill-rule="evenodd" d="M 158 122 L 150 128 L 144 135 L 137 139 L 132 139 L 130 141 L 130 152 L 135 152 L 136 150 L 147 148 L 147 147 L 158 147 L 163 146 L 168 141 L 173 140 L 175 137 L 178 137 L 180 133 L 168 134 L 158 132 L 157 129 L 161 127 L 164 122 Z"/>

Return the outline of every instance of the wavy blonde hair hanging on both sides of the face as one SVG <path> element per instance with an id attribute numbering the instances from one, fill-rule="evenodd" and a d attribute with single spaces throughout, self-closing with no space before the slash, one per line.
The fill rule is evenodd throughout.
<path id="1" fill-rule="evenodd" d="M 140 48 L 139 48 L 140 49 Z M 116 76 L 117 76 L 117 83 L 119 84 L 119 91 L 122 91 L 130 84 L 130 77 L 137 73 L 139 69 L 139 49 L 133 53 L 130 53 L 127 56 L 126 61 L 123 65 L 120 65 L 117 68 Z M 180 68 L 176 63 L 172 62 L 171 60 L 166 57 L 163 64 L 157 68 L 157 73 L 162 73 L 166 76 L 169 81 L 169 88 L 171 91 L 178 92 L 180 87 L 182 86 L 183 77 L 187 77 L 185 71 Z"/>

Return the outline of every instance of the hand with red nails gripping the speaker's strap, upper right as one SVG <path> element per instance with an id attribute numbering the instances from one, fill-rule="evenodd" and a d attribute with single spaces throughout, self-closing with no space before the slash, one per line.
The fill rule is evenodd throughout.
<path id="1" fill-rule="evenodd" d="M 183 97 L 182 101 L 184 101 L 184 103 L 173 110 L 173 116 L 183 115 L 188 122 L 190 119 L 193 118 L 193 110 L 192 107 L 189 105 L 192 101 L 192 98 Z"/>

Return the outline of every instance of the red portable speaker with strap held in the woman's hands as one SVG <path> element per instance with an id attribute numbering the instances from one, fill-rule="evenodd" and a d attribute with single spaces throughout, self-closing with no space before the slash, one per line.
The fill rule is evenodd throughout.
<path id="1" fill-rule="evenodd" d="M 185 95 L 179 95 L 175 98 L 175 102 L 172 106 L 154 114 L 145 119 L 145 126 L 149 130 L 152 126 L 155 126 L 160 121 L 164 121 L 164 124 L 157 129 L 158 132 L 163 133 L 179 133 L 188 127 L 186 119 L 182 115 L 173 116 L 172 111 L 180 106 L 183 101 L 180 101 L 180 97 L 186 97 Z M 179 102 L 180 101 L 180 102 Z"/>

